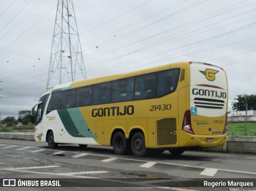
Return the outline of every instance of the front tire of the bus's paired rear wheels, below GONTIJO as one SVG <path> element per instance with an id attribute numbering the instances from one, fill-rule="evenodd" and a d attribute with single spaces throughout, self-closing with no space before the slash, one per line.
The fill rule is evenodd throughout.
<path id="1" fill-rule="evenodd" d="M 115 154 L 123 155 L 127 151 L 127 140 L 120 131 L 116 132 L 113 137 L 112 146 Z"/>

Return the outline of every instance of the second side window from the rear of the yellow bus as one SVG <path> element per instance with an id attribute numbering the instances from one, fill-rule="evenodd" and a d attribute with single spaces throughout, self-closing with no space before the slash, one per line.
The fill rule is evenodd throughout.
<path id="1" fill-rule="evenodd" d="M 156 74 L 149 74 L 136 77 L 134 98 L 150 99 L 154 98 L 156 93 Z"/>

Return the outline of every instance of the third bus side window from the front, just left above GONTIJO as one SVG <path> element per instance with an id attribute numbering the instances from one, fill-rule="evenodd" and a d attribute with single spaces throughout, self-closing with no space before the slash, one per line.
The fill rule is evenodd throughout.
<path id="1" fill-rule="evenodd" d="M 92 104 L 92 86 L 78 88 L 76 90 L 76 107 Z"/>

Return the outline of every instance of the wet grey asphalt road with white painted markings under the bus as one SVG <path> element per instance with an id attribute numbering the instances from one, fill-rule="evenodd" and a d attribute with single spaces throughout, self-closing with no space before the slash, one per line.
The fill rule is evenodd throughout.
<path id="1" fill-rule="evenodd" d="M 165 151 L 137 158 L 115 155 L 112 147 L 49 149 L 47 143 L 21 140 L 0 140 L 0 153 L 1 181 L 50 179 L 62 186 L 1 190 L 256 190 L 256 155 L 185 151 L 174 156 Z M 227 187 L 228 181 L 253 182 L 254 187 Z M 226 187 L 212 187 L 212 182 Z"/>

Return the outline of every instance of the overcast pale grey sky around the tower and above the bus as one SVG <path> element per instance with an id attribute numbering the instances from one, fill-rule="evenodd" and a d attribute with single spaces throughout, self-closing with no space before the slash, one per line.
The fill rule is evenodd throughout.
<path id="1" fill-rule="evenodd" d="M 0 0 L 2 119 L 18 118 L 46 91 L 57 2 Z M 226 71 L 229 111 L 236 95 L 256 94 L 256 0 L 73 4 L 87 78 L 199 61 Z M 58 77 L 51 83 L 58 85 Z"/>

